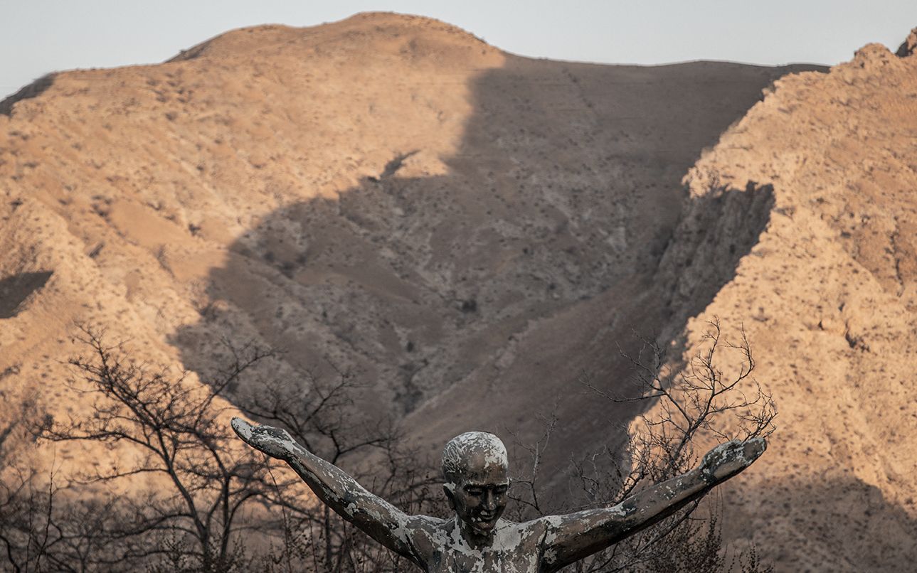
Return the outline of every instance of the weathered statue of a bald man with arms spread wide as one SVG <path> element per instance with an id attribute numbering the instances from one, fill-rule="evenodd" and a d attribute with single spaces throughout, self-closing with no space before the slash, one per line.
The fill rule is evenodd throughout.
<path id="1" fill-rule="evenodd" d="M 297 444 L 285 431 L 234 418 L 239 437 L 287 462 L 315 495 L 344 519 L 424 571 L 557 571 L 657 523 L 747 468 L 767 447 L 762 438 L 716 446 L 698 468 L 641 490 L 609 508 L 552 515 L 526 523 L 501 518 L 510 480 L 503 442 L 468 432 L 443 450 L 451 519 L 408 515 L 363 489 L 341 469 Z"/>

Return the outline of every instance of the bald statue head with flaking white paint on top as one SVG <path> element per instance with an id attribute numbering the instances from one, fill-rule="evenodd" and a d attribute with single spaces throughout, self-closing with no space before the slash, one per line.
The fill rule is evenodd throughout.
<path id="1" fill-rule="evenodd" d="M 443 489 L 470 533 L 489 535 L 506 509 L 506 447 L 496 435 L 466 432 L 443 448 Z"/>

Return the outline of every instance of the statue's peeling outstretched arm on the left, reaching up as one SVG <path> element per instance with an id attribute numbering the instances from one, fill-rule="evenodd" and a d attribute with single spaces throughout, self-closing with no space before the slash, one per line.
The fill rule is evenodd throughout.
<path id="1" fill-rule="evenodd" d="M 241 418 L 233 418 L 232 429 L 249 446 L 288 463 L 318 499 L 341 517 L 423 567 L 411 543 L 414 517 L 373 495 L 343 470 L 297 444 L 286 430 L 252 425 Z"/>

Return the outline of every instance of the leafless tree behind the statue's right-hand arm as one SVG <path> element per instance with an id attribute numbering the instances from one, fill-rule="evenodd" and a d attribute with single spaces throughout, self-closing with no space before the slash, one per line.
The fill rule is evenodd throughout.
<path id="1" fill-rule="evenodd" d="M 602 390 L 589 375 L 581 383 L 596 396 L 613 403 L 633 403 L 642 414 L 630 424 L 627 444 L 605 446 L 581 461 L 572 461 L 579 482 L 565 509 L 616 504 L 652 483 L 673 478 L 696 466 L 694 445 L 701 436 L 725 442 L 733 438 L 767 437 L 774 429 L 777 410 L 771 395 L 752 377 L 755 358 L 745 330 L 737 342 L 723 336 L 718 320 L 709 323 L 702 349 L 686 364 L 672 364 L 656 341 L 639 337 L 636 356 L 624 351 L 634 369 L 622 391 Z M 732 352 L 738 367 L 724 373 L 722 353 Z M 527 475 L 517 482 L 518 496 L 527 515 L 544 514 L 536 480 L 556 419 L 546 419 L 546 433 L 535 444 L 524 445 L 531 460 Z M 656 525 L 609 547 L 570 569 L 586 571 L 695 571 L 718 570 L 728 562 L 723 550 L 717 513 L 704 519 L 693 501 Z M 715 510 L 715 507 L 714 507 Z M 766 571 L 752 553 L 742 564 L 748 573 Z"/>

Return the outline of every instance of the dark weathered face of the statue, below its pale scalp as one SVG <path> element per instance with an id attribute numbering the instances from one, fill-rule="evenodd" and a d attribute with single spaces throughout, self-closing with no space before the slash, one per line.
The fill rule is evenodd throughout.
<path id="1" fill-rule="evenodd" d="M 476 452 L 458 481 L 447 489 L 458 518 L 470 526 L 471 533 L 491 534 L 506 509 L 506 492 L 510 488 L 506 466 Z"/>

